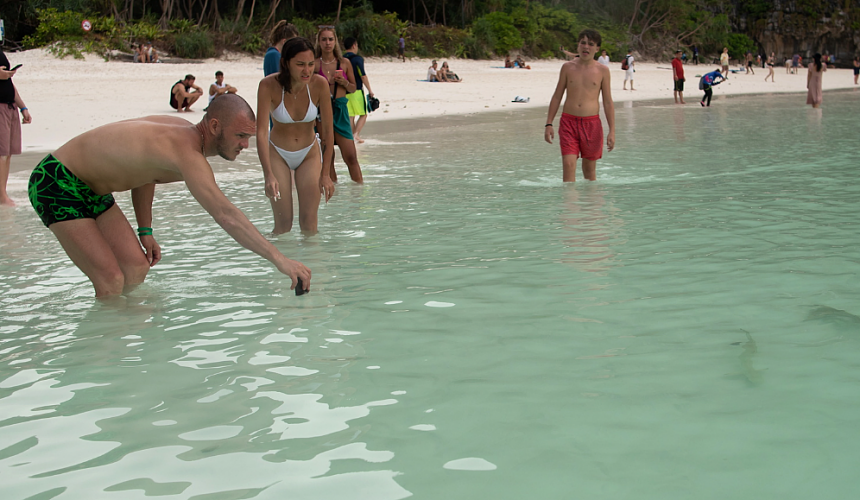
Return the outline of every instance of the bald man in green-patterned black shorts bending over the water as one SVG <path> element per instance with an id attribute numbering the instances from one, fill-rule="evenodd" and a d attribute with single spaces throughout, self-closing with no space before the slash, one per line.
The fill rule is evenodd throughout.
<path id="1" fill-rule="evenodd" d="M 289 276 L 290 288 L 301 278 L 308 289 L 310 269 L 281 254 L 230 203 L 206 161 L 214 155 L 235 160 L 256 132 L 254 112 L 235 94 L 213 100 L 196 125 L 168 116 L 104 125 L 39 163 L 30 176 L 30 203 L 92 281 L 96 297 L 142 283 L 161 260 L 151 228 L 155 185 L 179 181 L 233 239 Z M 129 189 L 139 241 L 111 194 Z"/>

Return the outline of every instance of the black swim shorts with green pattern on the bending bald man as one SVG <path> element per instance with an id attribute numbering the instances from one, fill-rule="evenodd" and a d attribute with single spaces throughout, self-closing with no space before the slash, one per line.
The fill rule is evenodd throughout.
<path id="1" fill-rule="evenodd" d="M 27 194 L 45 227 L 67 220 L 95 219 L 116 204 L 112 194 L 95 194 L 54 155 L 46 156 L 30 174 Z"/>

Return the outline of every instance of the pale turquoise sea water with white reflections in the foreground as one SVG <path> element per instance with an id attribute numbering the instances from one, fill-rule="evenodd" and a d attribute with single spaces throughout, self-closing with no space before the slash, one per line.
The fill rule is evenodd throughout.
<path id="1" fill-rule="evenodd" d="M 575 185 L 543 110 L 369 126 L 273 238 L 299 298 L 181 185 L 104 303 L 0 211 L 0 496 L 851 498 L 858 100 L 619 105 Z M 255 159 L 215 167 L 268 231 Z"/>

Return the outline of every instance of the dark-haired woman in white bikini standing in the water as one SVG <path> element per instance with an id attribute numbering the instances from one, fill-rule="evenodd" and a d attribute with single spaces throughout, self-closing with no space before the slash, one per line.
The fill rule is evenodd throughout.
<path id="1" fill-rule="evenodd" d="M 317 114 L 319 134 L 314 133 Z M 257 89 L 257 154 L 275 215 L 275 234 L 293 227 L 292 177 L 299 198 L 299 227 L 302 232 L 317 232 L 321 194 L 326 202 L 334 194 L 334 183 L 322 168 L 331 160 L 333 148 L 323 153 L 320 146 L 320 136 L 331 141 L 331 119 L 328 83 L 314 74 L 313 45 L 307 38 L 288 40 L 281 51 L 280 71 L 263 78 Z"/>

